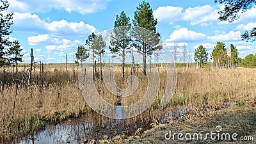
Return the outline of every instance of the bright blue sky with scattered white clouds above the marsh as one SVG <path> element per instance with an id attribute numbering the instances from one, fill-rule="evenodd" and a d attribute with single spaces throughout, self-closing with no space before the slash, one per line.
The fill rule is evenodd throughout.
<path id="1" fill-rule="evenodd" d="M 114 26 L 116 15 L 125 11 L 134 19 L 138 0 L 8 0 L 14 12 L 11 40 L 19 40 L 24 63 L 33 48 L 35 61 L 72 63 L 77 46 L 92 32 L 101 33 Z M 170 49 L 173 43 L 186 45 L 193 52 L 198 45 L 211 53 L 216 42 L 229 48 L 236 45 L 239 57 L 256 53 L 255 43 L 241 40 L 241 34 L 256 27 L 256 7 L 241 13 L 232 23 L 218 20 L 222 5 L 214 0 L 148 1 L 157 19 L 157 32 Z M 193 57 L 191 58 L 193 61 Z"/>

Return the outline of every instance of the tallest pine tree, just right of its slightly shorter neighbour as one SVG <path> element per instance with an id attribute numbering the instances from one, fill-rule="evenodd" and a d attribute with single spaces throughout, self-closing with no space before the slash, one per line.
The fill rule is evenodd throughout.
<path id="1" fill-rule="evenodd" d="M 134 12 L 134 29 L 132 36 L 136 39 L 134 46 L 143 55 L 143 74 L 147 71 L 147 55 L 151 56 L 156 49 L 162 49 L 159 45 L 160 34 L 156 33 L 157 19 L 154 19 L 153 10 L 148 2 L 143 1 Z M 138 28 L 139 27 L 139 28 Z"/>

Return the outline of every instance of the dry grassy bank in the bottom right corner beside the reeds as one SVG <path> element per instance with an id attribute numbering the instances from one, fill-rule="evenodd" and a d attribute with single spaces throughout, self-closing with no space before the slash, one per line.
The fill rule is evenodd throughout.
<path id="1" fill-rule="evenodd" d="M 216 127 L 220 126 L 221 131 L 216 132 Z M 219 128 L 220 128 L 219 127 Z M 169 136 L 176 133 L 176 135 Z M 215 132 L 220 134 L 220 140 L 212 140 L 209 136 L 207 140 L 204 140 L 205 135 L 209 132 Z M 168 133 L 168 135 L 166 135 Z M 190 133 L 192 134 L 191 140 L 178 140 L 177 134 Z M 193 134 L 201 133 L 203 136 L 202 140 L 193 140 Z M 237 140 L 232 139 L 226 140 L 223 137 L 221 140 L 221 134 L 234 134 L 237 133 Z M 217 136 L 217 135 L 216 135 Z M 241 137 L 246 139 L 242 141 Z M 166 140 L 170 138 L 170 140 Z M 189 138 L 189 135 L 188 135 Z M 174 139 L 174 140 L 173 140 Z M 191 118 L 184 122 L 172 122 L 170 124 L 158 124 L 154 128 L 143 132 L 142 136 L 134 136 L 128 139 L 119 141 L 121 143 L 256 143 L 256 108 L 229 108 L 222 109 L 211 115 L 208 118 Z M 118 142 L 116 142 L 118 143 Z"/>

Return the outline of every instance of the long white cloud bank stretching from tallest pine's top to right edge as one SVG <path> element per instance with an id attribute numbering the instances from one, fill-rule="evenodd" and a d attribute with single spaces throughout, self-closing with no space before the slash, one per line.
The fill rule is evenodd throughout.
<path id="1" fill-rule="evenodd" d="M 256 6 L 253 6 L 252 9 L 247 10 L 244 13 L 239 13 L 241 17 L 238 20 L 230 23 L 227 21 L 220 21 L 218 18 L 220 15 L 218 12 L 223 10 L 223 5 L 209 5 L 205 4 L 204 6 L 195 6 L 189 7 L 185 10 L 180 6 L 159 6 L 154 10 L 154 16 L 163 22 L 168 22 L 173 24 L 176 21 L 186 21 L 190 22 L 191 25 L 200 24 L 201 26 L 209 26 L 213 22 L 218 22 L 218 24 L 243 24 L 243 22 L 253 22 L 253 19 L 256 19 Z"/>

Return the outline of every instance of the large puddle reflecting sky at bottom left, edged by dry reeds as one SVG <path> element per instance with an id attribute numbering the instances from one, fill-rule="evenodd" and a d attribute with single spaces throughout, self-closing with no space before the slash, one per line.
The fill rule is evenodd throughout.
<path id="1" fill-rule="evenodd" d="M 33 144 L 33 143 L 90 143 L 92 140 L 102 140 L 103 136 L 112 138 L 119 134 L 132 135 L 130 125 L 129 129 L 124 120 L 113 120 L 104 118 L 102 125 L 95 122 L 88 122 L 88 117 L 78 118 L 75 120 L 67 120 L 60 124 L 48 124 L 44 130 L 22 138 L 18 144 Z M 118 105 L 118 118 L 122 118 L 122 106 Z M 90 117 L 91 121 L 93 116 Z M 134 125 L 135 126 L 135 125 Z M 144 127 L 142 122 L 136 122 L 136 127 Z M 133 127 L 136 131 L 136 127 Z M 130 132 L 129 132 L 130 131 Z"/>

